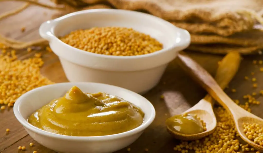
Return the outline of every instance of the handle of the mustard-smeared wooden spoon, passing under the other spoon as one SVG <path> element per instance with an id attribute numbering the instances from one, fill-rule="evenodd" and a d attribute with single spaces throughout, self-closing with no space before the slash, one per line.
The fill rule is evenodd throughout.
<path id="1" fill-rule="evenodd" d="M 219 61 L 219 66 L 215 74 L 215 80 L 223 90 L 235 76 L 237 70 L 239 69 L 240 61 L 241 56 L 238 52 L 230 52 L 221 61 Z M 209 94 L 206 95 L 204 99 L 210 102 L 212 101 Z"/>

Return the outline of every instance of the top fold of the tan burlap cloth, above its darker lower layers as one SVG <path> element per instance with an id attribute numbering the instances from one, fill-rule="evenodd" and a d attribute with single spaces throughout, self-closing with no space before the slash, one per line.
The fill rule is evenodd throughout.
<path id="1" fill-rule="evenodd" d="M 83 7 L 103 0 L 51 0 Z M 262 0 L 106 0 L 118 9 L 145 10 L 172 21 L 190 33 L 215 33 L 228 36 L 252 29 L 254 20 L 248 12 L 259 12 Z M 244 11 L 247 11 L 244 13 Z"/>

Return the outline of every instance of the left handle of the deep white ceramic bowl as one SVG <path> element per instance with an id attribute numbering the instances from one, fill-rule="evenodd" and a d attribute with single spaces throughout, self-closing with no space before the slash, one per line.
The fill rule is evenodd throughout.
<path id="1" fill-rule="evenodd" d="M 51 39 L 55 37 L 55 35 L 51 32 L 51 29 L 54 27 L 54 25 L 55 22 L 52 20 L 42 23 L 39 28 L 40 36 L 44 39 L 47 39 L 48 41 L 51 41 Z"/>

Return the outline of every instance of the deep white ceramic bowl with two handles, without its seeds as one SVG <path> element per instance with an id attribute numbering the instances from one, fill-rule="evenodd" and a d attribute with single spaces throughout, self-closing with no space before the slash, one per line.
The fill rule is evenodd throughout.
<path id="1" fill-rule="evenodd" d="M 73 30 L 92 27 L 128 27 L 149 34 L 164 49 L 138 56 L 110 56 L 85 52 L 58 39 Z M 168 63 L 190 44 L 188 31 L 150 14 L 119 9 L 91 9 L 44 22 L 40 35 L 58 55 L 70 82 L 98 82 L 145 93 L 156 84 Z"/>

